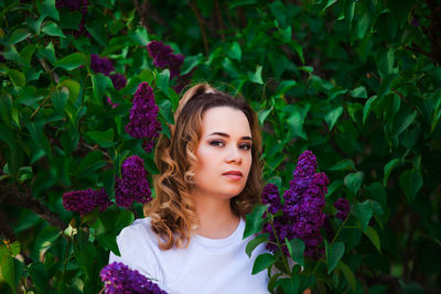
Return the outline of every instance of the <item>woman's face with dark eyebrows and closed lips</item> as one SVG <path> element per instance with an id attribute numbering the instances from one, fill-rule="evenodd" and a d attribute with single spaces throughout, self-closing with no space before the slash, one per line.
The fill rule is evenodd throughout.
<path id="1" fill-rule="evenodd" d="M 243 111 L 230 107 L 206 110 L 196 150 L 194 188 L 223 199 L 238 195 L 251 167 L 251 130 Z"/>

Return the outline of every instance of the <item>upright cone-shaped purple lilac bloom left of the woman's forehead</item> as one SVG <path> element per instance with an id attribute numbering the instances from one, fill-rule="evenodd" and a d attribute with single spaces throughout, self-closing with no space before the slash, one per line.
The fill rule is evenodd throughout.
<path id="1" fill-rule="evenodd" d="M 141 83 L 135 92 L 133 106 L 130 109 L 130 121 L 126 124 L 126 131 L 133 138 L 144 139 L 143 148 L 150 152 L 154 140 L 161 131 L 158 121 L 159 107 L 154 102 L 153 89 L 149 83 Z"/>

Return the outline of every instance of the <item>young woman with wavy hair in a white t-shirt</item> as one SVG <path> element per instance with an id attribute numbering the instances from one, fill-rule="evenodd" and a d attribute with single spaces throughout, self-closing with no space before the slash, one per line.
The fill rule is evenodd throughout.
<path id="1" fill-rule="evenodd" d="M 200 84 L 180 101 L 171 140 L 155 151 L 157 197 L 143 219 L 117 238 L 119 261 L 169 293 L 268 293 L 266 272 L 251 274 L 245 215 L 259 202 L 261 138 L 245 102 Z"/>

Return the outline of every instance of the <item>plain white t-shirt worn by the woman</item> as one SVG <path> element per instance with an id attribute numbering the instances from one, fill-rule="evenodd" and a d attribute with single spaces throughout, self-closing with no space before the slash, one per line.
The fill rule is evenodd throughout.
<path id="1" fill-rule="evenodd" d="M 187 248 L 160 250 L 150 218 L 137 219 L 117 237 L 121 257 L 110 252 L 109 263 L 122 262 L 153 280 L 170 294 L 268 293 L 267 271 L 251 274 L 255 259 L 267 252 L 257 247 L 251 258 L 243 240 L 245 221 L 225 239 L 193 236 Z"/>

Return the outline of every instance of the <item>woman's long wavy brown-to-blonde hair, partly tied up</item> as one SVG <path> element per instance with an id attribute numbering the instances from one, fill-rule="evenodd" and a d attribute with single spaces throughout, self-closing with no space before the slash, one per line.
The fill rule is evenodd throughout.
<path id="1" fill-rule="evenodd" d="M 160 171 L 153 176 L 157 197 L 144 206 L 144 215 L 151 218 L 151 227 L 162 250 L 187 247 L 197 228 L 191 189 L 197 166 L 195 152 L 202 132 L 202 118 L 206 110 L 225 106 L 245 113 L 252 138 L 251 168 L 244 189 L 230 199 L 232 210 L 245 217 L 260 202 L 261 134 L 256 112 L 244 101 L 208 84 L 195 85 L 180 100 L 174 113 L 175 124 L 170 126 L 171 140 L 161 134 L 155 148 L 154 160 Z"/>

